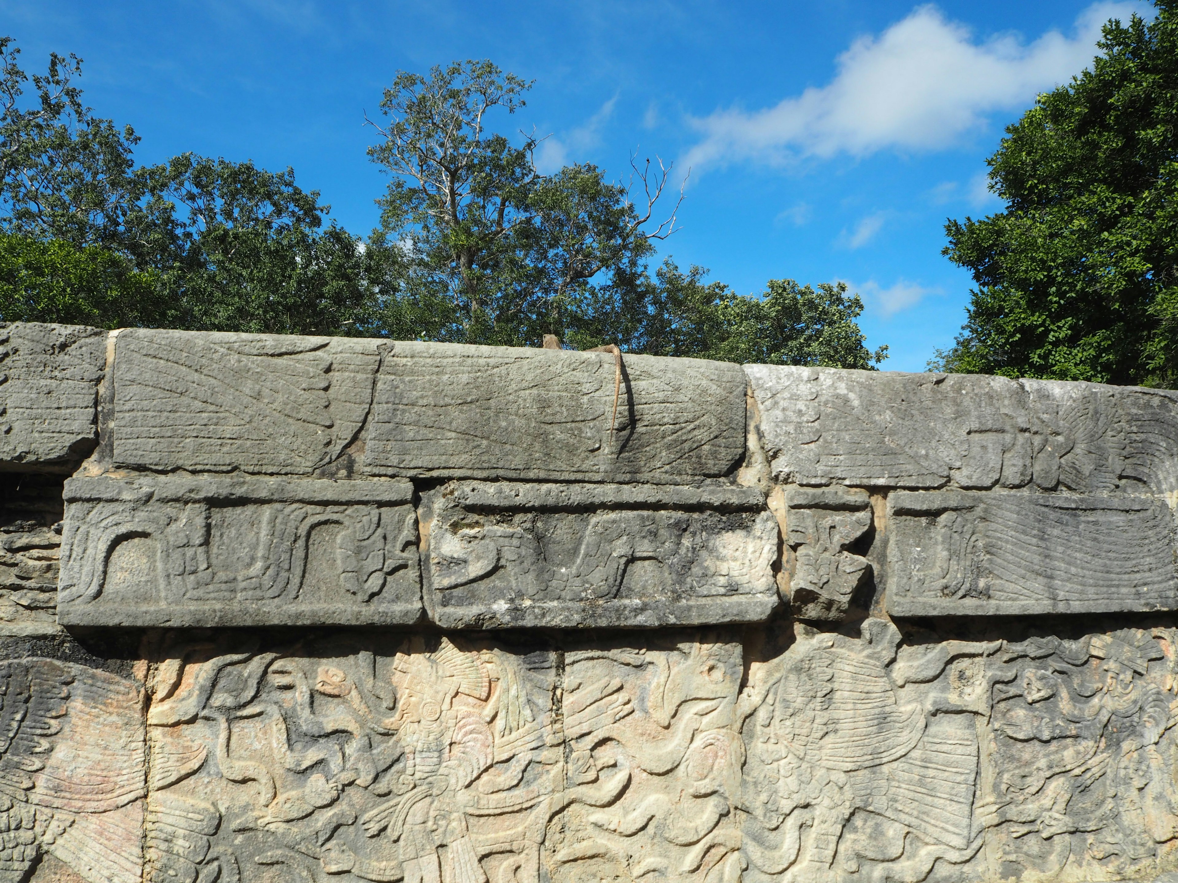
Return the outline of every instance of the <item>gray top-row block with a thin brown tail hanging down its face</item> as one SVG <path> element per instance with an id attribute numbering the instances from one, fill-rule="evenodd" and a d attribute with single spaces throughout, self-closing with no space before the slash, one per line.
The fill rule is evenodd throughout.
<path id="1" fill-rule="evenodd" d="M 701 359 L 397 343 L 369 473 L 690 484 L 744 453 L 747 383 Z"/>

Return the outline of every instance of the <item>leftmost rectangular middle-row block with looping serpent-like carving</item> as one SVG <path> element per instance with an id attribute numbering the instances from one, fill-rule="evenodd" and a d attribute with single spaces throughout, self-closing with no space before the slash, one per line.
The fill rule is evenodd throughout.
<path id="1" fill-rule="evenodd" d="M 66 625 L 405 624 L 408 482 L 108 477 L 66 484 Z"/>

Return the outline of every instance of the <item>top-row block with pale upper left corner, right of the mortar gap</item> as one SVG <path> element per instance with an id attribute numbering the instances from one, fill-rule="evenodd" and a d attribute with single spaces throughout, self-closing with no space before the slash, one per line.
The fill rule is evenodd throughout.
<path id="1" fill-rule="evenodd" d="M 1053 484 L 1027 393 L 977 374 L 748 365 L 780 482 L 863 487 Z"/>

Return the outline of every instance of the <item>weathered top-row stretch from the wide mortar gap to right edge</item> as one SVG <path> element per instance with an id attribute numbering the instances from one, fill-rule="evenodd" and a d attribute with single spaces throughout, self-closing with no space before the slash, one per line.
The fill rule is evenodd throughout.
<path id="1" fill-rule="evenodd" d="M 1178 394 L 1170 391 L 978 374 L 746 371 L 781 482 L 1178 490 Z"/>

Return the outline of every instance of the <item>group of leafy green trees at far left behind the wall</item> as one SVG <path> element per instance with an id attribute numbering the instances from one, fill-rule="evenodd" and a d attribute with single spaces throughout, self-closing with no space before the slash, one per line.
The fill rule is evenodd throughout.
<path id="1" fill-rule="evenodd" d="M 330 207 L 291 170 L 191 153 L 137 167 L 133 130 L 81 102 L 79 59 L 29 78 L 19 53 L 0 39 L 2 318 L 356 333 L 389 261 L 325 227 Z"/>

